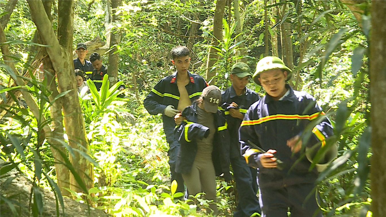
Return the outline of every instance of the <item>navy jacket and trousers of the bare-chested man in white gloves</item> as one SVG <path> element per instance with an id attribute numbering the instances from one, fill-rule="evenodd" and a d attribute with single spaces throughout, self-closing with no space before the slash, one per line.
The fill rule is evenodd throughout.
<path id="1" fill-rule="evenodd" d="M 144 107 L 151 115 L 162 114 L 163 127 L 166 135 L 166 141 L 169 143 L 169 165 L 171 171 L 171 181 L 177 181 L 177 192 L 184 192 L 184 180 L 180 173 L 176 173 L 176 159 L 179 150 L 177 138 L 174 137 L 174 128 L 176 123 L 173 117 L 168 117 L 164 114 L 164 110 L 168 105 L 178 107 L 179 91 L 176 77 L 177 72 L 173 75 L 164 77 L 151 90 L 149 95 L 144 100 Z M 193 102 L 202 93 L 202 90 L 208 86 L 207 82 L 196 74 L 191 74 L 188 71 L 190 82 L 185 86 L 190 100 Z"/>

